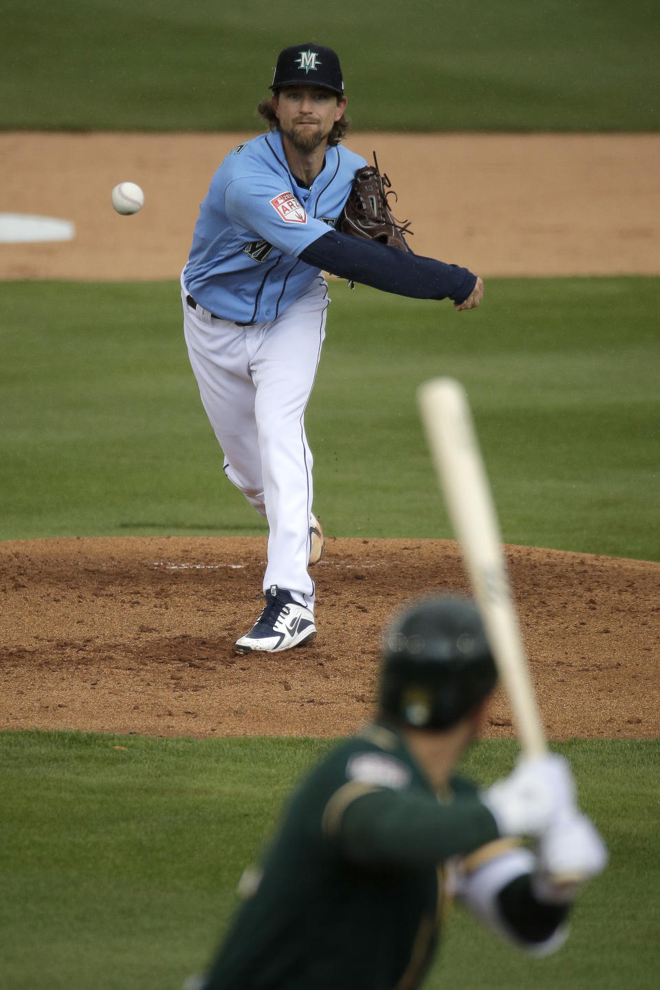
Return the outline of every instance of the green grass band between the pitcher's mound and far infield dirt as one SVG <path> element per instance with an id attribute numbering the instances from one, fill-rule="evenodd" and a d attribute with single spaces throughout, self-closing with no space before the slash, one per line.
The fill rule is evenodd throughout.
<path id="1" fill-rule="evenodd" d="M 493 279 L 462 314 L 331 294 L 308 411 L 328 533 L 451 537 L 415 397 L 450 374 L 507 543 L 660 559 L 657 279 Z M 264 533 L 222 473 L 173 283 L 8 283 L 0 345 L 0 540 Z"/>

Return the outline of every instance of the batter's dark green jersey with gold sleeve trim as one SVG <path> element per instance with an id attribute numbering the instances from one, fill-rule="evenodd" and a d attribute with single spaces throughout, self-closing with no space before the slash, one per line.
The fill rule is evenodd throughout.
<path id="1" fill-rule="evenodd" d="M 438 867 L 498 838 L 476 787 L 438 797 L 381 725 L 299 786 L 207 990 L 412 990 L 436 942 Z"/>

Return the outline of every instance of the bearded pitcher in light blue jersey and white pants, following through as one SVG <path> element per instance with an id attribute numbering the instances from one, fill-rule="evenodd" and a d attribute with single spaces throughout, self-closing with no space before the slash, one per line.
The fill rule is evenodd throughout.
<path id="1" fill-rule="evenodd" d="M 259 105 L 270 131 L 218 168 L 181 275 L 186 343 L 225 473 L 268 521 L 266 605 L 237 652 L 288 649 L 317 635 L 308 568 L 323 533 L 312 512 L 305 409 L 330 303 L 322 271 L 398 295 L 448 298 L 459 311 L 483 295 L 467 268 L 341 231 L 366 162 L 340 144 L 348 122 L 334 51 L 284 49 L 270 88 Z"/>

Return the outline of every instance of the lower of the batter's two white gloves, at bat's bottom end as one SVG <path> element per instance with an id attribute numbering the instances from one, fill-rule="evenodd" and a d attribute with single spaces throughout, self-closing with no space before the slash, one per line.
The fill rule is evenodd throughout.
<path id="1" fill-rule="evenodd" d="M 579 887 L 602 873 L 608 849 L 594 823 L 579 812 L 553 822 L 538 842 L 531 886 L 539 901 L 572 901 Z"/>

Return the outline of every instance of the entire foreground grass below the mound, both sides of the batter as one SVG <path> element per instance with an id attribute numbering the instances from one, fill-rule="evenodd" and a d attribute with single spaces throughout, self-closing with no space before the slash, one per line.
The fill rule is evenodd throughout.
<path id="1" fill-rule="evenodd" d="M 329 745 L 0 734 L 3 986 L 178 990 L 205 965 L 290 787 Z M 554 748 L 571 759 L 611 865 L 549 959 L 519 956 L 452 913 L 429 990 L 655 986 L 658 743 Z M 488 783 L 516 752 L 513 742 L 479 743 L 465 771 Z"/>

